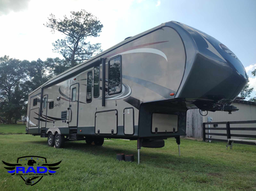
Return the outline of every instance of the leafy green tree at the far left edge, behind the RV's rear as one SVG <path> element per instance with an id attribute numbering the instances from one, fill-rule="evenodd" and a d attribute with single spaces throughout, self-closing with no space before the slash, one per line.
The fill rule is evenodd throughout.
<path id="1" fill-rule="evenodd" d="M 0 112 L 11 123 L 12 117 L 18 118 L 24 107 L 24 94 L 20 82 L 26 80 L 26 64 L 28 61 L 0 58 Z"/>

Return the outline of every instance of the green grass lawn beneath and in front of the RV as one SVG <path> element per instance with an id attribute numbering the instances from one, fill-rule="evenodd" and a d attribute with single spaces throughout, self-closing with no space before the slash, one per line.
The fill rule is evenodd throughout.
<path id="1" fill-rule="evenodd" d="M 0 163 L 0 190 L 256 190 L 256 147 L 181 140 L 181 157 L 174 138 L 163 148 L 142 148 L 140 165 L 116 161 L 116 154 L 135 154 L 137 142 L 105 140 L 103 146 L 84 141 L 65 148 L 47 146 L 47 138 L 0 135 L 0 159 L 16 163 L 20 156 L 43 156 L 48 163 L 62 160 L 56 175 L 27 186 Z"/>

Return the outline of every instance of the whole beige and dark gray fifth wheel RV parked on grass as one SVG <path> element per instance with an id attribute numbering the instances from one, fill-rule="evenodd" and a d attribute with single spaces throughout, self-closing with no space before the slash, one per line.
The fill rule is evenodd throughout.
<path id="1" fill-rule="evenodd" d="M 30 93 L 26 133 L 102 145 L 104 138 L 162 147 L 186 135 L 186 112 L 236 111 L 244 66 L 206 33 L 167 22 L 129 37 Z"/>

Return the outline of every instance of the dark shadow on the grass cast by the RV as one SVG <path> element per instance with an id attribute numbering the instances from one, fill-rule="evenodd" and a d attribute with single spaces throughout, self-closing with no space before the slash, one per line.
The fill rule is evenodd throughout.
<path id="1" fill-rule="evenodd" d="M 41 144 L 47 146 L 47 142 L 44 141 L 30 141 L 33 144 Z M 106 143 L 105 143 L 106 144 Z M 134 154 L 135 163 L 137 163 L 137 144 L 134 145 L 134 149 L 131 148 L 115 148 L 119 145 L 108 146 L 95 146 L 85 144 L 84 141 L 79 142 L 65 142 L 65 150 L 75 150 L 81 153 L 92 154 L 94 156 L 104 156 L 104 158 L 116 159 L 116 154 Z M 131 147 L 131 145 L 129 145 Z M 232 164 L 220 163 L 219 160 L 210 159 L 207 157 L 195 157 L 189 156 L 175 156 L 168 153 L 168 150 L 161 150 L 160 153 L 154 152 L 154 148 L 140 151 L 140 163 L 144 165 L 151 165 L 163 169 L 171 169 L 179 172 L 193 172 L 193 173 L 226 173 L 226 171 L 236 171 Z M 177 151 L 178 152 L 178 151 Z M 100 160 L 100 158 L 99 158 Z"/>

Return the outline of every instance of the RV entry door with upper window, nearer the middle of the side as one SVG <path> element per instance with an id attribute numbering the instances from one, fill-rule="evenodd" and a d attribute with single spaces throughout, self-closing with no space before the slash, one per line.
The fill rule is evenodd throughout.
<path id="1" fill-rule="evenodd" d="M 77 127 L 78 121 L 78 104 L 79 104 L 79 83 L 70 86 L 70 107 L 68 108 L 70 115 L 68 119 L 68 127 Z"/>

